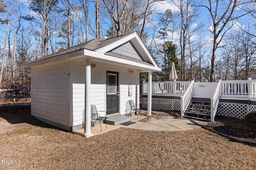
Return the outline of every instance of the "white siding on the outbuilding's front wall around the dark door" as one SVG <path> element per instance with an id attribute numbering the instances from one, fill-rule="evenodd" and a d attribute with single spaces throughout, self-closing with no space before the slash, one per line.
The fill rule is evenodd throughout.
<path id="1" fill-rule="evenodd" d="M 106 72 L 115 71 L 119 73 L 119 112 L 125 114 L 126 102 L 134 100 L 134 104 L 139 106 L 139 72 L 134 70 L 128 72 L 130 68 L 114 64 L 100 63 L 92 61 L 96 67 L 91 67 L 91 104 L 96 105 L 100 111 L 106 110 Z M 71 63 L 71 84 L 73 89 L 73 126 L 81 125 L 84 110 L 85 91 L 85 62 L 78 61 Z M 132 84 L 132 96 L 128 96 L 128 86 Z M 137 87 L 137 88 L 136 88 Z M 101 112 L 103 113 L 103 112 Z"/>

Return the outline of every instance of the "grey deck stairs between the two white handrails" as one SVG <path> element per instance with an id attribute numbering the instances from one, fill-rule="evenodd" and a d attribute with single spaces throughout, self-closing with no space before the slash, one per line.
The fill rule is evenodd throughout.
<path id="1" fill-rule="evenodd" d="M 210 98 L 192 98 L 184 117 L 211 121 L 211 100 Z"/>

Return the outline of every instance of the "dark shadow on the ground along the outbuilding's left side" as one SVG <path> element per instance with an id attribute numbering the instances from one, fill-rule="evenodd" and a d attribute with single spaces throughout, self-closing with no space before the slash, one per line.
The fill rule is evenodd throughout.
<path id="1" fill-rule="evenodd" d="M 44 123 L 43 121 L 40 121 L 33 117 L 31 115 L 31 106 L 25 105 L 25 106 L 1 106 L 0 107 L 0 118 L 2 117 L 8 123 L 11 124 L 19 124 L 19 123 L 28 123 L 30 125 L 38 126 L 38 127 L 44 127 L 49 129 L 58 129 L 61 131 L 68 132 L 64 129 L 60 129 L 58 127 L 52 126 L 48 123 Z"/>

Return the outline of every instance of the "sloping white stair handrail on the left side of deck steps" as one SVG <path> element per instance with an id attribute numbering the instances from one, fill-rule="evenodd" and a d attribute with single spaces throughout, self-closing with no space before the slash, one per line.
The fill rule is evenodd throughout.
<path id="1" fill-rule="evenodd" d="M 194 96 L 194 79 L 191 80 L 186 92 L 183 94 L 183 96 L 180 97 L 180 117 L 184 116 L 184 113 L 193 96 Z"/>

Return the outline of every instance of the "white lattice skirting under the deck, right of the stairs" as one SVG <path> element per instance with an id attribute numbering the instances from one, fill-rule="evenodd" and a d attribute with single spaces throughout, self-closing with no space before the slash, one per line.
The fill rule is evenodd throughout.
<path id="1" fill-rule="evenodd" d="M 248 113 L 255 110 L 254 105 L 220 102 L 216 115 L 245 118 Z"/>

